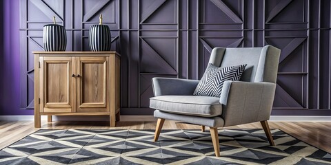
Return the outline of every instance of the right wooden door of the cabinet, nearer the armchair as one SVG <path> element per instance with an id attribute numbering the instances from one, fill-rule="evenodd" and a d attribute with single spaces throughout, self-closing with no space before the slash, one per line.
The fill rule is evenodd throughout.
<path id="1" fill-rule="evenodd" d="M 77 112 L 107 112 L 108 57 L 77 57 Z"/>

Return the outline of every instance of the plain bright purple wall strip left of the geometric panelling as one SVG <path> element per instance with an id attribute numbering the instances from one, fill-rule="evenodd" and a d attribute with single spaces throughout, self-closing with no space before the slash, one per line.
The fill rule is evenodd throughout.
<path id="1" fill-rule="evenodd" d="M 3 54 L 1 53 L 0 115 L 32 115 L 33 111 L 21 110 L 20 54 L 19 54 L 19 1 L 3 0 Z"/>

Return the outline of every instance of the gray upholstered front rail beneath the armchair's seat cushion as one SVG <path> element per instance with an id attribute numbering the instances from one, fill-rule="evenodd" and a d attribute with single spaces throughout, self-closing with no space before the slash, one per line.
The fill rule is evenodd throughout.
<path id="1" fill-rule="evenodd" d="M 166 113 L 159 110 L 154 111 L 155 118 L 164 118 L 168 120 L 176 120 L 181 122 L 188 122 L 192 124 L 211 126 L 211 127 L 222 127 L 223 119 L 220 117 L 212 117 L 212 118 L 203 118 L 196 115 L 179 115 L 174 113 Z"/>

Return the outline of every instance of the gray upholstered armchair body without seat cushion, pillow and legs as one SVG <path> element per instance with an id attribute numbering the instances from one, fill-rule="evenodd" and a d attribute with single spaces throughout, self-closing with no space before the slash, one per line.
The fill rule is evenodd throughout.
<path id="1" fill-rule="evenodd" d="M 247 64 L 241 82 L 225 81 L 219 103 L 221 115 L 200 117 L 179 115 L 178 112 L 154 111 L 157 118 L 179 120 L 205 126 L 232 126 L 269 120 L 276 89 L 277 70 L 281 50 L 271 45 L 265 47 L 221 48 L 215 47 L 210 63 L 228 67 Z M 154 95 L 192 95 L 199 81 L 153 79 Z M 184 83 L 185 82 L 185 83 Z M 187 87 L 186 87 L 187 85 Z M 184 91 L 187 90 L 187 91 Z M 173 105 L 168 105 L 171 107 Z M 157 109 L 157 108 L 154 108 Z M 185 110 L 185 111 L 188 111 Z M 190 110 L 191 111 L 191 110 Z M 215 122 L 217 124 L 212 124 Z"/>

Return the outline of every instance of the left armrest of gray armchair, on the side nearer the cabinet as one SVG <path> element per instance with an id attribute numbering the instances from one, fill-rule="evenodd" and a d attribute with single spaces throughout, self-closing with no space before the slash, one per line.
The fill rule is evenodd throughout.
<path id="1" fill-rule="evenodd" d="M 193 95 L 199 80 L 180 78 L 152 78 L 154 96 L 164 95 Z"/>

